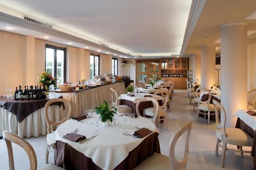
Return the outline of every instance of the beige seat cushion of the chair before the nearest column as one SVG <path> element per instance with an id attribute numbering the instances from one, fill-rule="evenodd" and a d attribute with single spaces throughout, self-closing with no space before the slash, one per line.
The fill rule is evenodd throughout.
<path id="1" fill-rule="evenodd" d="M 238 128 L 226 128 L 227 137 L 222 136 L 222 130 L 218 129 L 215 133 L 216 137 L 225 143 L 251 147 L 253 138 L 245 131 Z"/>

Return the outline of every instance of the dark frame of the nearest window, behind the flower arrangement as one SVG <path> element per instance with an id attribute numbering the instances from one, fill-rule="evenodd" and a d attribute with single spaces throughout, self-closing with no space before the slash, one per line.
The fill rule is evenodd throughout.
<path id="1" fill-rule="evenodd" d="M 46 48 L 51 48 L 54 50 L 54 69 L 53 69 L 53 74 L 55 75 L 55 79 L 57 79 L 57 50 L 61 50 L 64 52 L 64 65 L 63 65 L 63 83 L 66 82 L 66 71 L 67 71 L 67 58 L 66 58 L 66 51 L 67 49 L 65 47 L 60 47 L 60 46 L 55 46 L 51 44 L 46 44 Z M 46 48 L 45 48 L 45 70 L 46 70 Z M 47 71 L 47 70 L 46 70 Z"/>

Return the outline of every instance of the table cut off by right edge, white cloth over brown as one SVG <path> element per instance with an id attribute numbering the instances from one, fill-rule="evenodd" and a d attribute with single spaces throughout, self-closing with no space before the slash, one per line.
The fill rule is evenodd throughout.
<path id="1" fill-rule="evenodd" d="M 253 170 L 256 170 L 256 110 L 254 111 L 254 115 L 248 114 L 248 109 L 240 109 L 234 114 L 237 117 L 237 123 L 235 128 L 239 128 L 245 132 L 247 132 L 252 138 L 252 148 L 251 148 L 251 156 L 253 162 Z"/>

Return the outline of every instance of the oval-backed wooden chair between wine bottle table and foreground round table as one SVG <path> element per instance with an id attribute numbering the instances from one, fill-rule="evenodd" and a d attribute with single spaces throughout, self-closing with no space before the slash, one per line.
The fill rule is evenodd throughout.
<path id="1" fill-rule="evenodd" d="M 58 102 L 61 102 L 61 103 L 64 104 L 65 110 L 67 109 L 67 115 L 66 115 L 65 118 L 63 118 L 59 122 L 52 122 L 52 120 L 50 120 L 50 118 L 49 118 L 48 108 L 49 108 L 49 106 L 51 104 L 58 103 Z M 51 140 L 51 138 L 54 135 L 54 132 L 52 132 L 52 126 L 59 126 L 63 122 L 66 122 L 69 119 L 70 114 L 71 114 L 71 104 L 66 99 L 56 98 L 56 99 L 52 99 L 52 100 L 50 100 L 50 101 L 48 101 L 46 103 L 46 105 L 45 105 L 45 119 L 46 119 L 46 124 L 47 124 L 47 137 L 46 137 L 47 141 Z M 51 149 L 54 149 L 54 148 L 47 143 L 47 147 L 46 147 L 46 163 L 48 163 L 49 151 L 53 152 Z"/>

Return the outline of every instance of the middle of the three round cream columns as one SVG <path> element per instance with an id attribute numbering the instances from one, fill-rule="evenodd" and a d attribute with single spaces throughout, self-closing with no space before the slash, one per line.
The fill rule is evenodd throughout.
<path id="1" fill-rule="evenodd" d="M 210 89 L 215 84 L 215 45 L 201 46 L 201 87 Z"/>

